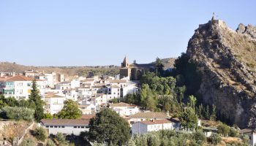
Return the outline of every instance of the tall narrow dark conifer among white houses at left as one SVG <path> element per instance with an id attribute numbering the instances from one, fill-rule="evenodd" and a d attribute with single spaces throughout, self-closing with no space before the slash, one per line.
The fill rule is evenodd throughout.
<path id="1" fill-rule="evenodd" d="M 34 110 L 34 120 L 40 122 L 44 116 L 43 105 L 44 102 L 41 100 L 39 90 L 37 89 L 37 82 L 34 80 L 32 84 L 32 90 L 29 95 L 30 108 Z"/>

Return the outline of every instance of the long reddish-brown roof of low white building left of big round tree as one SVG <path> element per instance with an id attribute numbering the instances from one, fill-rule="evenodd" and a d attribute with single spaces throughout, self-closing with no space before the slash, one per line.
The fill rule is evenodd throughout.
<path id="1" fill-rule="evenodd" d="M 42 119 L 41 123 L 45 126 L 73 126 L 73 125 L 88 125 L 89 120 L 82 120 L 82 119 Z"/>

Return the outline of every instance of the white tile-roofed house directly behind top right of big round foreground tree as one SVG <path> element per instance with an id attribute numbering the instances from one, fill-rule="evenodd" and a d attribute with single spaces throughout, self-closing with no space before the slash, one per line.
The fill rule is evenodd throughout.
<path id="1" fill-rule="evenodd" d="M 140 112 L 140 108 L 134 104 L 127 104 L 124 102 L 118 104 L 110 104 L 110 109 L 114 110 L 120 116 L 134 115 Z"/>

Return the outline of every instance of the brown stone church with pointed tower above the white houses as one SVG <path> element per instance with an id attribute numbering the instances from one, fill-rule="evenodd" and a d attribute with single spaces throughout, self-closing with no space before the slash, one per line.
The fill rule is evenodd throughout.
<path id="1" fill-rule="evenodd" d="M 139 80 L 143 72 L 154 72 L 154 64 L 129 64 L 127 57 L 121 63 L 120 78 L 129 77 L 129 80 Z"/>

